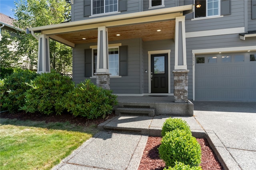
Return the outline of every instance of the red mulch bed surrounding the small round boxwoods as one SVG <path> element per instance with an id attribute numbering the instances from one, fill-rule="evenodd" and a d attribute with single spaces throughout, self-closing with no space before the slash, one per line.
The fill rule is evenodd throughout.
<path id="1" fill-rule="evenodd" d="M 165 163 L 159 158 L 158 147 L 160 145 L 161 137 L 148 137 L 146 148 L 143 152 L 142 159 L 138 170 L 163 170 Z M 208 141 L 203 139 L 196 139 L 201 145 L 202 159 L 200 166 L 203 170 L 223 170 L 216 155 L 211 149 Z"/>

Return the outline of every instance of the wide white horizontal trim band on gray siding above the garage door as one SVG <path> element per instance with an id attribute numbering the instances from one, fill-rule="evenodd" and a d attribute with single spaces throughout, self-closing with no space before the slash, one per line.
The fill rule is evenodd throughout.
<path id="1" fill-rule="evenodd" d="M 227 34 L 235 34 L 235 33 L 244 33 L 244 27 L 186 32 L 186 38 L 206 37 L 206 36 L 213 36 L 213 35 L 227 35 Z"/>

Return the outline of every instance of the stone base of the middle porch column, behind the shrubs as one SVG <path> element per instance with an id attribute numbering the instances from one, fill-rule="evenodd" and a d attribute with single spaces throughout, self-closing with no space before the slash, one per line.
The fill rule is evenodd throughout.
<path id="1" fill-rule="evenodd" d="M 102 87 L 106 90 L 110 90 L 110 75 L 108 72 L 97 72 L 96 75 L 96 85 Z"/>

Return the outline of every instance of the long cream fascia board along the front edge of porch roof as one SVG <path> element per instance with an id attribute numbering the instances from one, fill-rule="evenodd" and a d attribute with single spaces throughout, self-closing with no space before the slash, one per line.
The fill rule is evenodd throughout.
<path id="1" fill-rule="evenodd" d="M 134 12 L 130 14 L 122 14 L 122 15 L 116 15 L 116 16 L 108 16 L 108 17 L 102 17 L 102 18 L 94 18 L 90 20 L 81 20 L 81 21 L 73 21 L 73 22 L 67 22 L 67 23 L 59 23 L 54 25 L 45 25 L 40 27 L 32 27 L 28 28 L 29 31 L 42 31 L 47 29 L 57 29 L 57 28 L 64 28 L 64 27 L 72 27 L 72 26 L 79 26 L 79 25 L 88 25 L 88 24 L 94 24 L 94 23 L 102 23 L 102 22 L 111 22 L 116 20 L 128 20 L 132 18 L 142 18 L 142 17 L 148 17 L 148 16 L 156 16 L 156 15 L 162 15 L 162 14 L 170 14 L 174 12 L 182 12 L 186 10 L 192 10 L 192 5 L 185 5 L 185 6 L 176 6 L 172 8 L 164 8 L 164 9 L 158 9 L 158 10 L 150 10 L 150 11 L 143 11 L 143 12 Z"/>

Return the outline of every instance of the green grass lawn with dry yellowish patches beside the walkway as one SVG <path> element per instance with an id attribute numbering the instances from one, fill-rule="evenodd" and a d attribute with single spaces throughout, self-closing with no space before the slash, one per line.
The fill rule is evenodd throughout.
<path id="1" fill-rule="evenodd" d="M 0 123 L 1 170 L 49 170 L 98 131 L 68 122 L 2 118 Z"/>

